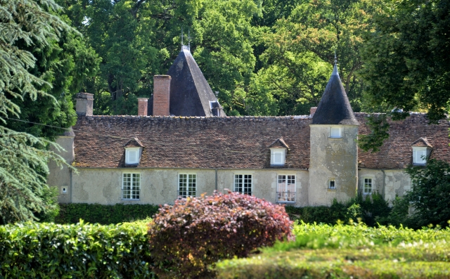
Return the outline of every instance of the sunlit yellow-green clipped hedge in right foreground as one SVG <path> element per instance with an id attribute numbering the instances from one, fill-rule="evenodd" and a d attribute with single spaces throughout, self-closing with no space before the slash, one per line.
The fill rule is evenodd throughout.
<path id="1" fill-rule="evenodd" d="M 221 261 L 217 278 L 448 278 L 449 229 L 297 223 L 294 242 Z"/>

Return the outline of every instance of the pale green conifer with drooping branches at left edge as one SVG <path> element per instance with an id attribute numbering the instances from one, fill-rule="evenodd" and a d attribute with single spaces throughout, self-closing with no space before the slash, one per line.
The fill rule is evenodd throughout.
<path id="1" fill-rule="evenodd" d="M 53 0 L 0 0 L 0 223 L 32 220 L 34 212 L 51 210 L 43 199 L 49 191 L 47 162 L 65 164 L 46 148 L 58 149 L 54 143 L 4 126 L 8 117 L 19 117 L 25 96 L 53 98 L 38 89 L 51 84 L 30 73 L 36 59 L 20 46 L 46 45 L 71 30 L 58 11 Z"/>

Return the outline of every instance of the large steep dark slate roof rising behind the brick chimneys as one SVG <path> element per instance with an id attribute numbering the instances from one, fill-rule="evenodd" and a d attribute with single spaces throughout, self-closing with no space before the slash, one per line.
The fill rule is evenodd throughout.
<path id="1" fill-rule="evenodd" d="M 215 102 L 216 96 L 188 46 L 181 47 L 167 74 L 172 77 L 169 105 L 171 115 L 214 116 L 210 101 Z M 226 116 L 220 105 L 219 108 L 219 116 Z M 148 115 L 153 115 L 153 97 L 148 100 Z"/>

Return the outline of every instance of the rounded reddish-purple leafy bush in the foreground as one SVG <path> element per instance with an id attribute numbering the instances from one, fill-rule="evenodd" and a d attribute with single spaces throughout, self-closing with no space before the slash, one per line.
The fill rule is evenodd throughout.
<path id="1" fill-rule="evenodd" d="M 211 278 L 219 259 L 246 257 L 257 247 L 291 238 L 281 205 L 229 192 L 179 200 L 162 207 L 148 239 L 159 278 Z"/>

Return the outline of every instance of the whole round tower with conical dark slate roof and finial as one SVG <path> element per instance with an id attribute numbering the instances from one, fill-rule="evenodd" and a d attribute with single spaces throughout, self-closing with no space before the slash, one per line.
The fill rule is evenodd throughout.
<path id="1" fill-rule="evenodd" d="M 358 185 L 359 122 L 354 116 L 337 61 L 310 128 L 309 205 L 330 205 L 336 198 L 346 202 Z"/>

